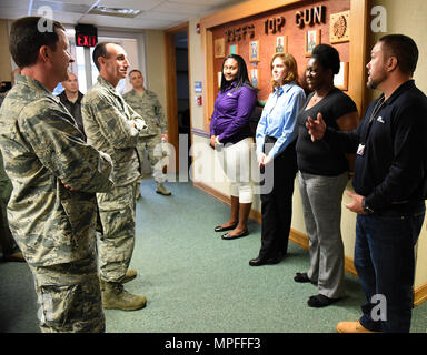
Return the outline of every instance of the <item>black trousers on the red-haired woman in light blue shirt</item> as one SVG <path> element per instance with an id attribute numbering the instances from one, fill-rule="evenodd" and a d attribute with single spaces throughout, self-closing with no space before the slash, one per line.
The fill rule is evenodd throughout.
<path id="1" fill-rule="evenodd" d="M 266 143 L 274 141 L 266 138 Z M 265 149 L 266 153 L 269 150 Z M 274 160 L 274 185 L 268 194 L 261 194 L 262 232 L 259 255 L 277 257 L 286 255 L 292 219 L 292 195 L 297 155 L 295 142 Z"/>

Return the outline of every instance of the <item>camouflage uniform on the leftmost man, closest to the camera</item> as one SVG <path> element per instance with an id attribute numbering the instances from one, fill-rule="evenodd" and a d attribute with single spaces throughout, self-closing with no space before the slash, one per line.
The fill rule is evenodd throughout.
<path id="1" fill-rule="evenodd" d="M 4 99 L 0 132 L 13 184 L 9 226 L 34 277 L 41 331 L 103 332 L 95 193 L 113 184 L 110 158 L 83 142 L 59 99 L 30 77 L 18 75 Z"/>

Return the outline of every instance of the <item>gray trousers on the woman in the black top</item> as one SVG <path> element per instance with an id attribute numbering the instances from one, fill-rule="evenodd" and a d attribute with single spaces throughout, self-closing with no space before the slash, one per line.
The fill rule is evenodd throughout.
<path id="1" fill-rule="evenodd" d="M 309 237 L 308 277 L 318 283 L 319 293 L 344 296 L 344 244 L 341 239 L 341 200 L 348 173 L 321 176 L 299 172 L 304 220 Z"/>

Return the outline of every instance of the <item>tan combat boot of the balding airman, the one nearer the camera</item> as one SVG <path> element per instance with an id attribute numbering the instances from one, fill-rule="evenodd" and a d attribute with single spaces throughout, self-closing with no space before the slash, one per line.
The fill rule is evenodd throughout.
<path id="1" fill-rule="evenodd" d="M 145 296 L 132 295 L 121 283 L 105 282 L 102 291 L 102 307 L 106 310 L 137 311 L 146 306 Z"/>

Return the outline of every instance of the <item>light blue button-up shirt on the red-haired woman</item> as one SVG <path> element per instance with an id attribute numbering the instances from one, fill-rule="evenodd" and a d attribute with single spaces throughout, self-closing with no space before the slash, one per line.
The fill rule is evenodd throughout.
<path id="1" fill-rule="evenodd" d="M 288 83 L 275 88 L 264 106 L 256 134 L 257 151 L 262 152 L 266 135 L 277 139 L 268 156 L 280 154 L 297 138 L 297 115 L 306 101 L 302 88 Z"/>

